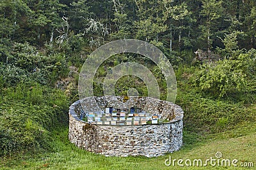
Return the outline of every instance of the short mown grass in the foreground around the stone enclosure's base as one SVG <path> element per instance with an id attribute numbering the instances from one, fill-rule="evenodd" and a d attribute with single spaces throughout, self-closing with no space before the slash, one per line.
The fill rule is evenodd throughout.
<path id="1" fill-rule="evenodd" d="M 69 143 L 67 127 L 52 134 L 52 152 L 41 152 L 17 157 L 5 157 L 0 169 L 253 169 L 253 167 L 179 167 L 165 166 L 164 161 L 172 159 L 215 158 L 216 152 L 223 154 L 222 159 L 238 159 L 253 162 L 256 166 L 256 124 L 241 125 L 232 131 L 198 136 L 184 130 L 184 146 L 178 152 L 157 158 L 146 157 L 104 157 L 86 152 Z"/>

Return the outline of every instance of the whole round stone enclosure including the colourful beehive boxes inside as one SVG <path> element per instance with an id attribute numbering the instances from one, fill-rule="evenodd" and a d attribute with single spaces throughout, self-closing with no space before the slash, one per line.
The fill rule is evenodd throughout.
<path id="1" fill-rule="evenodd" d="M 150 97 L 107 98 L 86 97 L 70 106 L 68 138 L 71 143 L 90 152 L 120 157 L 157 157 L 182 146 L 183 111 L 180 106 Z M 106 119 L 111 116 L 109 112 L 115 114 L 111 120 Z M 154 121 L 157 118 L 158 121 Z M 161 118 L 164 120 L 159 121 Z M 130 119 L 132 124 L 128 124 Z M 136 120 L 140 123 L 136 124 Z"/>

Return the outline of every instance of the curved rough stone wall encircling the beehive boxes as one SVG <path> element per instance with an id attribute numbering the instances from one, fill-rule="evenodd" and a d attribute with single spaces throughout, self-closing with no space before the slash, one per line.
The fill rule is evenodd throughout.
<path id="1" fill-rule="evenodd" d="M 69 110 L 69 134 L 68 138 L 79 148 L 90 152 L 100 153 L 106 156 L 127 157 L 129 155 L 144 155 L 156 157 L 170 153 L 182 146 L 183 111 L 176 104 L 161 101 L 161 104 L 154 103 L 149 97 L 141 98 L 142 101 L 150 101 L 154 108 L 147 105 L 147 110 L 155 110 L 163 114 L 170 113 L 170 122 L 154 125 L 95 125 L 80 120 L 79 115 L 86 113 L 81 103 L 96 99 L 99 104 L 97 110 L 104 109 L 108 101 L 100 97 L 88 97 L 83 101 L 76 101 Z M 121 99 L 122 101 L 122 99 Z M 138 101 L 137 101 L 138 102 Z M 90 105 L 90 103 L 89 103 Z M 145 106 L 146 106 L 145 105 Z M 91 106 L 91 105 L 90 105 Z M 172 106 L 166 107 L 166 106 Z M 169 112 L 166 109 L 169 108 Z M 86 108 L 89 109 L 89 108 Z M 93 109 L 93 108 L 90 108 Z"/>

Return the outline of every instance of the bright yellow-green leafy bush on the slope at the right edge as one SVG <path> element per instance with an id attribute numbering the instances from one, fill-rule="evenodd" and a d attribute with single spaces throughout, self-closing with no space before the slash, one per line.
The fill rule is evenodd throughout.
<path id="1" fill-rule="evenodd" d="M 249 51 L 233 59 L 220 60 L 214 64 L 205 64 L 195 74 L 195 84 L 205 92 L 215 96 L 251 91 L 255 80 L 255 52 Z"/>

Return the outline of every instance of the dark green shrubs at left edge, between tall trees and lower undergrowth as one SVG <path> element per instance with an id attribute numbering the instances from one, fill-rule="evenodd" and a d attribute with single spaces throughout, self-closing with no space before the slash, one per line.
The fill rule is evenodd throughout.
<path id="1" fill-rule="evenodd" d="M 67 61 L 63 53 L 45 55 L 28 43 L 13 43 L 8 64 L 1 63 L 4 87 L 24 81 L 37 81 L 43 85 L 54 85 L 56 80 L 68 74 Z"/>

